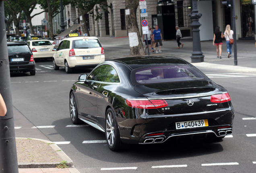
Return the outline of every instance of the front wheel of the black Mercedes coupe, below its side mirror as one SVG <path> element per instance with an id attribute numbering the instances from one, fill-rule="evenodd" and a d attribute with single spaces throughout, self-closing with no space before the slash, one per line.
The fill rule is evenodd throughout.
<path id="1" fill-rule="evenodd" d="M 80 124 L 80 119 L 78 119 L 78 111 L 74 91 L 72 91 L 69 96 L 69 113 L 72 123 L 75 125 Z"/>

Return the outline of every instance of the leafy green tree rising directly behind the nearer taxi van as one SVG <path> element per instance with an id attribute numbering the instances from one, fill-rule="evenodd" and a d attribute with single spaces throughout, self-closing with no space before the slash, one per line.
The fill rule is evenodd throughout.
<path id="1" fill-rule="evenodd" d="M 87 33 L 88 36 L 90 36 L 89 34 L 89 30 L 88 30 L 88 26 L 87 26 L 87 14 L 91 14 L 92 16 L 95 17 L 95 20 L 101 19 L 102 18 L 102 13 L 97 13 L 96 15 L 93 13 L 93 7 L 96 4 L 99 4 L 99 8 L 103 9 L 104 11 L 107 11 L 107 1 L 106 0 L 70 0 L 71 4 L 73 6 L 76 6 L 81 14 L 81 16 L 83 16 L 83 32 Z M 98 9 L 96 9 L 98 10 Z"/>

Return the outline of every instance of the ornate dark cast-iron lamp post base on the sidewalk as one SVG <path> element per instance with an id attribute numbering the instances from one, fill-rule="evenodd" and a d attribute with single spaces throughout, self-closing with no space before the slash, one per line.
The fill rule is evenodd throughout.
<path id="1" fill-rule="evenodd" d="M 199 18 L 202 16 L 201 13 L 198 13 L 197 10 L 197 0 L 192 0 L 192 14 L 189 15 L 192 19 L 191 27 L 192 27 L 192 35 L 193 35 L 193 52 L 190 56 L 191 62 L 204 62 L 204 55 L 201 51 L 201 43 L 200 43 L 200 33 L 199 27 L 201 24 L 199 23 Z"/>

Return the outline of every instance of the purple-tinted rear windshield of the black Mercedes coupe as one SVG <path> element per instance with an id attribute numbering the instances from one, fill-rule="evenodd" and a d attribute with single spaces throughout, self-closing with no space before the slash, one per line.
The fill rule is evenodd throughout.
<path id="1" fill-rule="evenodd" d="M 151 66 L 134 69 L 132 77 L 139 84 L 202 80 L 206 76 L 198 69 L 181 65 Z M 133 80 L 134 81 L 134 80 Z"/>

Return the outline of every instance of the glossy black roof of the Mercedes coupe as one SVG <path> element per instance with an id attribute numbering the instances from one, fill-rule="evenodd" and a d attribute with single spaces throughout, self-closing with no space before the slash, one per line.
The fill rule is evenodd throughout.
<path id="1" fill-rule="evenodd" d="M 161 65 L 161 64 L 188 64 L 187 61 L 175 56 L 132 56 L 118 58 L 110 61 L 119 62 L 130 66 L 130 68 L 140 68 L 142 66 Z"/>

